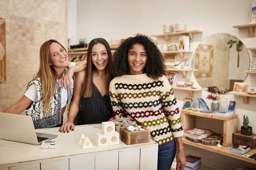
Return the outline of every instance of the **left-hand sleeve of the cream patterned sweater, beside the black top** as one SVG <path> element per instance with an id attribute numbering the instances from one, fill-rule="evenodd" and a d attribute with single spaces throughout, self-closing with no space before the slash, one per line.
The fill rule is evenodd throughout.
<path id="1" fill-rule="evenodd" d="M 121 117 L 126 117 L 124 114 L 122 105 L 121 105 L 121 100 L 120 100 L 117 90 L 116 90 L 115 79 L 113 79 L 110 82 L 109 96 L 111 99 L 111 106 L 113 108 L 113 116 L 115 116 L 116 119 L 121 118 Z"/>

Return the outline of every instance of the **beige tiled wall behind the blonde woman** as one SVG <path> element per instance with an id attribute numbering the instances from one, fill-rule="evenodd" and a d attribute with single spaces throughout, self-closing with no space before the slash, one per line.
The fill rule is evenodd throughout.
<path id="1" fill-rule="evenodd" d="M 67 47 L 67 0 L 0 0 L 6 19 L 6 84 L 0 84 L 0 112 L 23 96 L 39 69 L 42 43 Z"/>

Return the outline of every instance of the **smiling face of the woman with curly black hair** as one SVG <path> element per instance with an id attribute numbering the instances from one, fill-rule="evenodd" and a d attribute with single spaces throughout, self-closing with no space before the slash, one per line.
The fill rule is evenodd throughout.
<path id="1" fill-rule="evenodd" d="M 147 53 L 143 45 L 134 44 L 128 52 L 130 74 L 143 74 L 147 61 Z"/>

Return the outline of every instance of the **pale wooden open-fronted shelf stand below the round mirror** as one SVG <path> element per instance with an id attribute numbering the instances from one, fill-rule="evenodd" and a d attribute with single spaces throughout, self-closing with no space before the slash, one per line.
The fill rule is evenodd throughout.
<path id="1" fill-rule="evenodd" d="M 227 147 L 232 144 L 232 134 L 237 131 L 238 115 L 231 115 L 227 117 L 214 116 L 212 113 L 200 113 L 188 110 L 181 111 L 182 127 L 184 131 L 195 128 L 196 116 L 205 117 L 208 119 L 218 119 L 223 121 L 223 146 Z"/>

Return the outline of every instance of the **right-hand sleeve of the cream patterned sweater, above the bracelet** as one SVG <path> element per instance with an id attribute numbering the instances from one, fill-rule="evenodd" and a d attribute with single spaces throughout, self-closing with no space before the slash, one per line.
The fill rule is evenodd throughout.
<path id="1" fill-rule="evenodd" d="M 177 99 L 175 98 L 172 87 L 165 76 L 163 76 L 163 96 L 161 97 L 161 101 L 165 115 L 171 125 L 173 136 L 175 138 L 183 136 L 180 109 L 177 107 Z"/>

